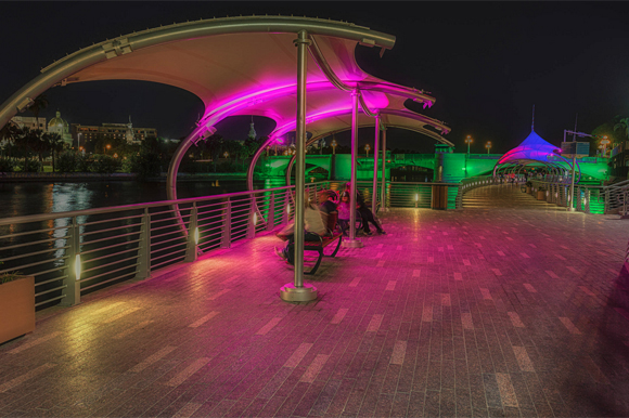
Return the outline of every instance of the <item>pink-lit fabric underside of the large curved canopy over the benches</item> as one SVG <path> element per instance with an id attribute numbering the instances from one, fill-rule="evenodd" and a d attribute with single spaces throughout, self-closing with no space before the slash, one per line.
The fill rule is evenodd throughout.
<path id="1" fill-rule="evenodd" d="M 231 34 L 162 43 L 133 51 L 87 67 L 73 75 L 69 82 L 95 80 L 144 80 L 175 86 L 197 95 L 206 110 L 200 126 L 213 127 L 233 115 L 257 115 L 273 119 L 277 128 L 294 130 L 296 48 L 294 34 Z M 346 84 L 363 82 L 374 88 L 395 92 L 397 86 L 364 73 L 356 63 L 356 41 L 317 36 L 322 55 L 332 70 Z M 406 88 L 405 88 L 406 89 Z M 407 89 L 411 91 L 412 89 Z M 420 92 L 418 92 L 418 95 Z M 389 92 L 362 89 L 368 107 L 408 110 L 407 97 Z M 432 105 L 432 101 L 425 105 Z M 307 115 L 320 117 L 317 122 L 307 119 L 307 129 L 313 135 L 351 126 L 350 118 L 339 117 L 351 109 L 348 92 L 335 88 L 308 56 Z M 429 136 L 440 135 L 424 129 L 432 126 L 441 133 L 449 128 L 442 122 L 403 116 L 383 116 L 396 119 L 396 126 Z M 280 133 L 280 132 L 278 132 Z"/>

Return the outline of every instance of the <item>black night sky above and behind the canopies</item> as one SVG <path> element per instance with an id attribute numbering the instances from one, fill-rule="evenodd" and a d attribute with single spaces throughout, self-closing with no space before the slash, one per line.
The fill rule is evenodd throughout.
<path id="1" fill-rule="evenodd" d="M 188 19 L 251 14 L 330 17 L 395 35 L 382 58 L 357 49 L 362 68 L 424 89 L 437 99 L 427 116 L 452 128 L 446 138 L 472 152 L 503 153 L 530 132 L 559 144 L 564 129 L 589 132 L 615 115 L 629 116 L 627 2 L 0 2 L 0 101 L 39 69 L 80 48 L 133 30 Z M 255 63 L 252 63 L 255 65 Z M 189 92 L 147 82 L 78 83 L 51 89 L 51 106 L 69 122 L 125 122 L 179 138 L 203 113 Z M 219 132 L 244 139 L 247 118 Z M 256 118 L 258 134 L 272 123 Z M 368 132 L 367 135 L 373 135 Z M 365 140 L 367 135 L 362 139 Z M 238 136 L 238 138 L 236 138 Z M 433 149 L 433 140 L 390 132 L 391 147 Z"/>

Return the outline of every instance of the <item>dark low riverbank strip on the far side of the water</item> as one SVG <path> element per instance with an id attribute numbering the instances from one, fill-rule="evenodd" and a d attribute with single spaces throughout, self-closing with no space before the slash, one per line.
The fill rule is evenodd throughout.
<path id="1" fill-rule="evenodd" d="M 53 173 L 53 172 L 7 172 L 0 173 L 0 182 L 91 182 L 91 181 L 133 181 L 138 178 L 136 173 Z M 187 181 L 207 181 L 214 182 L 217 180 L 244 180 L 246 173 L 204 173 L 204 174 L 188 174 L 178 173 L 178 182 Z M 166 173 L 146 179 L 147 182 L 165 182 Z"/>

